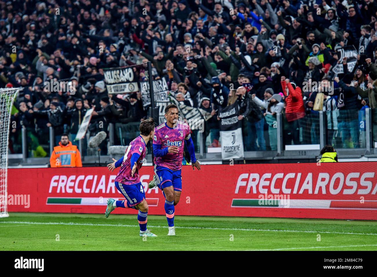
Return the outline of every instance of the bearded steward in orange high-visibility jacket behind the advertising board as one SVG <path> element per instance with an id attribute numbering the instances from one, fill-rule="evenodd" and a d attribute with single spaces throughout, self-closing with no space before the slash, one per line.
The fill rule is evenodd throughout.
<path id="1" fill-rule="evenodd" d="M 61 135 L 59 146 L 54 147 L 50 158 L 51 167 L 83 167 L 81 155 L 76 145 L 72 145 L 68 135 Z"/>

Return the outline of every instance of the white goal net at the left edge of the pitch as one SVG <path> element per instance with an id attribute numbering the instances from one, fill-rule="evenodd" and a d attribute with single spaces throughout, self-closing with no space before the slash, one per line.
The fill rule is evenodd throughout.
<path id="1" fill-rule="evenodd" d="M 22 88 L 0 89 L 0 217 L 7 217 L 9 125 L 14 99 Z"/>

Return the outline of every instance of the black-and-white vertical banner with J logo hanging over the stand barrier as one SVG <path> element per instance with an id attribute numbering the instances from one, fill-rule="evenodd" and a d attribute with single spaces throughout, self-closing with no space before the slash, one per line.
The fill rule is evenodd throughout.
<path id="1" fill-rule="evenodd" d="M 219 110 L 221 158 L 223 160 L 244 158 L 242 121 L 238 120 L 238 105 L 234 103 Z M 245 119 L 244 119 L 245 120 Z"/>

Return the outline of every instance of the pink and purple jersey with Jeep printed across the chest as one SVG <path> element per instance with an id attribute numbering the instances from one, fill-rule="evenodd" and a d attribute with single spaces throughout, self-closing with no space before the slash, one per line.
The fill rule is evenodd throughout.
<path id="1" fill-rule="evenodd" d="M 155 135 L 153 136 L 153 144 L 160 144 L 161 149 L 169 146 L 177 146 L 178 153 L 167 153 L 162 157 L 155 157 L 156 165 L 167 167 L 171 170 L 180 170 L 182 168 L 184 140 L 189 139 L 191 130 L 189 125 L 184 122 L 177 121 L 176 127 L 170 128 L 166 122 L 155 128 Z"/>

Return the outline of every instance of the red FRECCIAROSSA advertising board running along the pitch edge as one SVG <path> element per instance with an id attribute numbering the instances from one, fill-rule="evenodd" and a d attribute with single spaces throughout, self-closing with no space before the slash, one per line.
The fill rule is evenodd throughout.
<path id="1" fill-rule="evenodd" d="M 182 167 L 176 215 L 377 220 L 377 162 L 202 165 Z M 165 214 L 164 196 L 148 189 L 149 214 Z M 104 213 L 107 198 L 124 199 L 106 167 L 9 169 L 9 212 Z M 12 200 L 30 197 L 28 205 Z M 115 214 L 135 214 L 118 208 Z"/>

